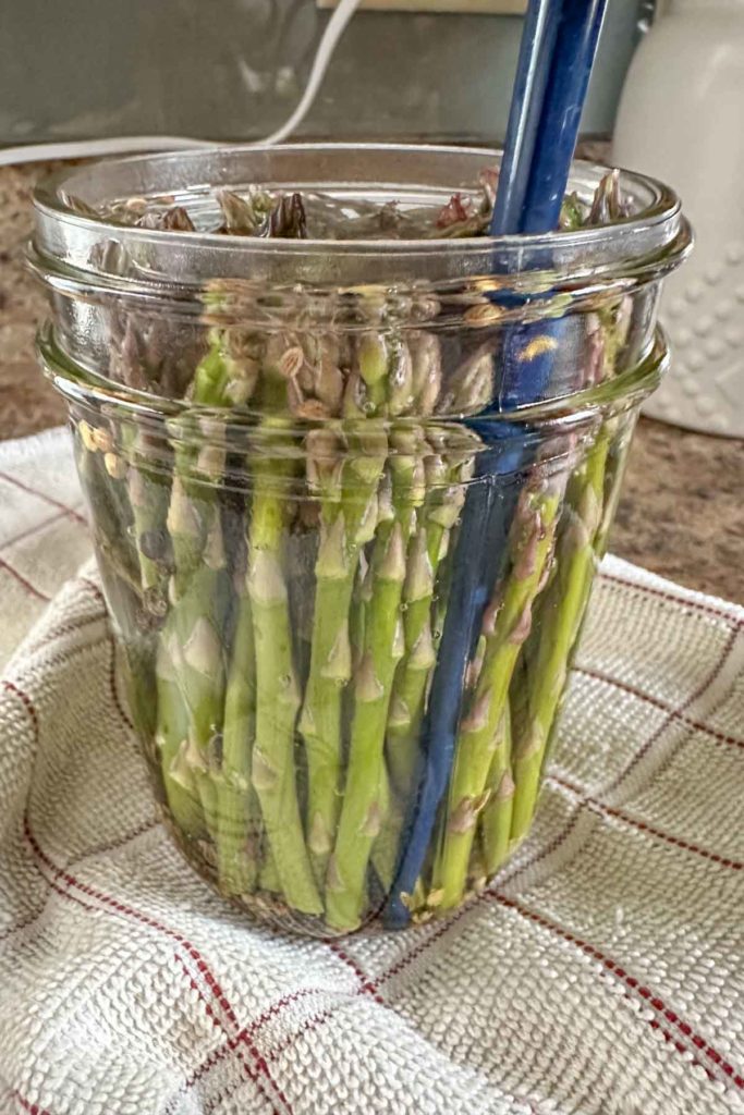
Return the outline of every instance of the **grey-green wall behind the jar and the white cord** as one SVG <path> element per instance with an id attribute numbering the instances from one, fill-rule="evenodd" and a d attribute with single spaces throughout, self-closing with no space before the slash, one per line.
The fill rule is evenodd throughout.
<path id="1" fill-rule="evenodd" d="M 332 2 L 2 0 L 0 144 L 269 135 L 299 99 L 330 16 L 319 4 Z M 299 134 L 501 139 L 524 8 L 364 0 Z M 586 134 L 611 132 L 653 9 L 653 0 L 610 0 Z"/>

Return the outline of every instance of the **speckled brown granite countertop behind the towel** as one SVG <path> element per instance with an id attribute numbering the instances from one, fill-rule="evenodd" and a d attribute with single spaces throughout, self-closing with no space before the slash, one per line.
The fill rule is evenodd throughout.
<path id="1" fill-rule="evenodd" d="M 65 420 L 33 357 L 45 301 L 22 262 L 29 191 L 49 169 L 0 167 L 0 438 Z M 641 418 L 611 550 L 682 584 L 744 601 L 743 448 Z"/>

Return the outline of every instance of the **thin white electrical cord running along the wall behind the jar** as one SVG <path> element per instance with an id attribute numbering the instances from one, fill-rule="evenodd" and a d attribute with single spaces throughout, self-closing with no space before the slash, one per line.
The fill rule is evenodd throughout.
<path id="1" fill-rule="evenodd" d="M 297 108 L 277 132 L 267 136 L 265 139 L 258 139 L 247 146 L 261 147 L 281 143 L 305 119 L 326 76 L 338 40 L 344 35 L 359 3 L 360 0 L 340 0 L 318 43 L 308 84 Z M 219 144 L 210 139 L 191 139 L 187 136 L 113 136 L 109 139 L 28 144 L 21 147 L 0 149 L 0 166 L 11 166 L 17 163 L 40 163 L 52 158 L 90 158 L 104 155 L 125 155 L 133 152 L 185 151 L 194 147 L 215 146 Z"/>

